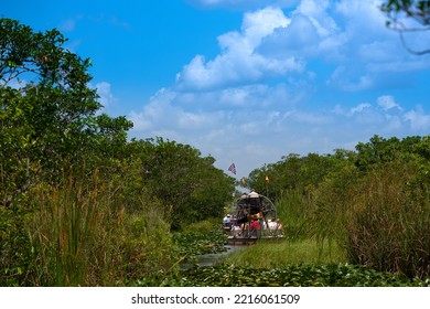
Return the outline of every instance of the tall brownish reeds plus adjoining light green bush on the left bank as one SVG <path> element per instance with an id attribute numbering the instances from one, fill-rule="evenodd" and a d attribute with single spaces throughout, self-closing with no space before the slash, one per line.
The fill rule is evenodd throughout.
<path id="1" fill-rule="evenodd" d="M 35 188 L 26 285 L 127 286 L 168 271 L 175 249 L 163 206 L 146 194 L 128 206 L 120 191 L 119 183 L 100 182 L 97 172 L 71 175 L 64 188 Z"/>

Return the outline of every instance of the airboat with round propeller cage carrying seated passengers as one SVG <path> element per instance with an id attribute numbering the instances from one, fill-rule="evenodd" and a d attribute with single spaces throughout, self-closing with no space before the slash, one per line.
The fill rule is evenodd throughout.
<path id="1" fill-rule="evenodd" d="M 275 204 L 256 192 L 244 194 L 232 205 L 232 214 L 223 220 L 229 245 L 248 245 L 259 239 L 283 238 L 282 224 Z"/>

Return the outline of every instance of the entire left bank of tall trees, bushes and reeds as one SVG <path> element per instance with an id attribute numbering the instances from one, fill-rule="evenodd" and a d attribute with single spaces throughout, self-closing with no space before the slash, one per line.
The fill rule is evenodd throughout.
<path id="1" fill-rule="evenodd" d="M 0 19 L 0 286 L 163 276 L 170 232 L 221 216 L 235 180 L 191 146 L 129 140 L 65 43 Z"/>

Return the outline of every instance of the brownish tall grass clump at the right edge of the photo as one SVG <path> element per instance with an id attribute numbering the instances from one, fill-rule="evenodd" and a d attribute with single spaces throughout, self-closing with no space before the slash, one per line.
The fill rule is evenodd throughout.
<path id="1" fill-rule="evenodd" d="M 430 199 L 411 167 L 387 166 L 368 174 L 354 204 L 346 248 L 352 262 L 409 277 L 430 276 Z"/>

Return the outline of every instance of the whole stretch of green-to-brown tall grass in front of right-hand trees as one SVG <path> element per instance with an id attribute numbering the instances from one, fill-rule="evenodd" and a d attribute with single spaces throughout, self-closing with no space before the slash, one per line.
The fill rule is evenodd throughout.
<path id="1" fill-rule="evenodd" d="M 417 163 L 330 174 L 312 191 L 277 201 L 290 239 L 315 239 L 316 256 L 342 246 L 353 264 L 408 277 L 430 276 L 430 178 Z"/>

